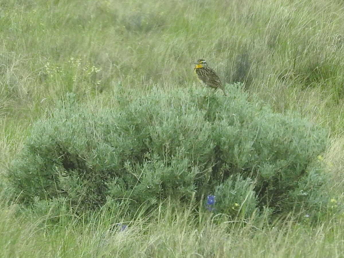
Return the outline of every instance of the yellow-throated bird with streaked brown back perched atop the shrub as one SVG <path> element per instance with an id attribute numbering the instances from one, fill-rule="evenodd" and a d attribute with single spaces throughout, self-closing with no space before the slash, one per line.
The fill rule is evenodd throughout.
<path id="1" fill-rule="evenodd" d="M 222 89 L 223 94 L 227 96 L 225 89 L 221 85 L 221 80 L 212 68 L 207 67 L 205 60 L 200 59 L 196 63 L 195 75 L 205 85 L 217 90 Z"/>

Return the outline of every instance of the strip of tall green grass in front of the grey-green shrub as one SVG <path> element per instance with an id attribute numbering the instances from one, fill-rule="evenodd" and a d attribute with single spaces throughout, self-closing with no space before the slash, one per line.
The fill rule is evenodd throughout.
<path id="1" fill-rule="evenodd" d="M 61 214 L 64 224 L 51 226 L 11 206 L 0 213 L 0 250 L 3 257 L 342 257 L 344 251 L 342 221 L 311 228 L 291 215 L 218 224 L 199 208 L 158 206 L 154 218 L 138 216 L 121 230 L 120 218 L 104 211 Z"/>

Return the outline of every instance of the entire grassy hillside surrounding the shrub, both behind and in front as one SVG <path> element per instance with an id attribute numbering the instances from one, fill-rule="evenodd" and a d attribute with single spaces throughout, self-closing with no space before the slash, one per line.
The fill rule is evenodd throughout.
<path id="1" fill-rule="evenodd" d="M 193 63 L 203 58 L 222 81 L 245 83 L 276 113 L 297 111 L 329 130 L 318 157 L 343 200 L 344 5 L 301 1 L 1 1 L 0 172 L 35 121 L 47 119 L 65 93 L 90 109 L 152 88 L 203 87 Z M 227 90 L 230 95 L 230 90 Z M 221 94 L 217 92 L 216 94 Z M 343 257 L 342 214 L 218 224 L 194 207 L 158 205 L 152 216 L 122 222 L 106 209 L 88 219 L 68 211 L 23 209 L 1 181 L 1 253 L 6 257 Z M 164 207 L 163 210 L 160 207 Z M 199 208 L 201 210 L 201 208 Z M 201 214 L 194 221 L 194 214 Z M 54 214 L 54 215 L 52 215 Z M 50 226 L 51 216 L 66 218 Z M 318 221 L 316 225 L 309 221 Z M 128 227 L 109 231 L 113 223 Z"/>

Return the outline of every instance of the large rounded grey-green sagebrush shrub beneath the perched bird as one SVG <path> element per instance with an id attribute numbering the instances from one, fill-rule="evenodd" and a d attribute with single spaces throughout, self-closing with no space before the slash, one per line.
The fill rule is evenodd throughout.
<path id="1" fill-rule="evenodd" d="M 89 209 L 112 200 L 135 213 L 168 196 L 215 193 L 216 211 L 229 215 L 250 216 L 264 206 L 318 209 L 329 199 L 315 162 L 326 132 L 297 114 L 248 102 L 239 85 L 228 92 L 140 96 L 118 89 L 116 107 L 97 111 L 67 95 L 51 118 L 35 123 L 9 166 L 9 182 L 31 205 L 63 197 Z"/>

